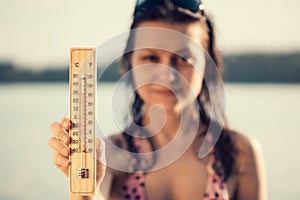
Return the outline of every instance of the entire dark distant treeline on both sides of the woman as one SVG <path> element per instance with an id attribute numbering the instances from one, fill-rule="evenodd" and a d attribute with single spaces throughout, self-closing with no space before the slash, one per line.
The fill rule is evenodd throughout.
<path id="1" fill-rule="evenodd" d="M 225 55 L 223 61 L 226 82 L 300 83 L 300 52 Z M 107 68 L 101 80 L 118 79 L 117 63 L 112 63 Z M 0 70 L 0 83 L 66 82 L 69 77 L 68 66 L 34 71 L 0 61 Z"/>

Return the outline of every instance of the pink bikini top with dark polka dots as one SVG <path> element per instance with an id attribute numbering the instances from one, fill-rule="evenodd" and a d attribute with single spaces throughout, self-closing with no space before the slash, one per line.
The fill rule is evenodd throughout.
<path id="1" fill-rule="evenodd" d="M 140 145 L 138 139 L 134 139 L 134 145 L 140 152 Z M 208 180 L 207 186 L 203 197 L 199 197 L 201 200 L 229 200 L 229 195 L 226 187 L 226 183 L 213 169 L 215 162 L 214 154 L 210 154 L 209 166 L 208 166 Z M 122 186 L 122 200 L 146 200 L 145 190 L 145 177 L 144 172 L 135 172 L 128 176 Z"/>

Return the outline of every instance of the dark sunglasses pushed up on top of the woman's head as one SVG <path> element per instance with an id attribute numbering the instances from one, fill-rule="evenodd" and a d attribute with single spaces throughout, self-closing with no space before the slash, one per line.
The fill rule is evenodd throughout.
<path id="1" fill-rule="evenodd" d="M 194 13 L 201 11 L 204 14 L 204 5 L 201 0 L 172 0 L 178 7 L 188 9 Z M 142 14 L 154 10 L 159 4 L 162 4 L 163 0 L 137 0 L 135 5 L 134 17 L 139 17 Z"/>

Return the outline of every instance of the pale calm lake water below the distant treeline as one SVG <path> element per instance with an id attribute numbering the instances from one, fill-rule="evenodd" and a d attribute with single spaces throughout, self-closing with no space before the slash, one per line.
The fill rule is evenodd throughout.
<path id="1" fill-rule="evenodd" d="M 107 84 L 98 106 L 104 130 L 112 124 Z M 256 137 L 263 146 L 268 195 L 299 200 L 300 85 L 228 84 L 226 113 L 231 126 Z M 68 115 L 67 84 L 0 85 L 0 199 L 66 200 L 68 180 L 52 164 L 49 126 Z M 106 95 L 107 94 L 107 95 Z"/>

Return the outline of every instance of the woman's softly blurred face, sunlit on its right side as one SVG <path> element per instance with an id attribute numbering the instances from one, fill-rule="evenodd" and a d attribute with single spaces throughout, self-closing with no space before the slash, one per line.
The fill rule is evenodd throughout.
<path id="1" fill-rule="evenodd" d="M 137 28 L 149 27 L 152 32 L 148 31 L 147 36 L 136 35 L 134 39 L 135 49 L 139 49 L 133 51 L 130 60 L 135 89 L 146 109 L 158 104 L 166 110 L 178 111 L 180 106 L 194 102 L 201 91 L 205 56 L 197 50 L 205 48 L 207 31 L 200 22 L 146 21 Z M 196 67 L 195 62 L 202 62 L 202 67 Z"/>

